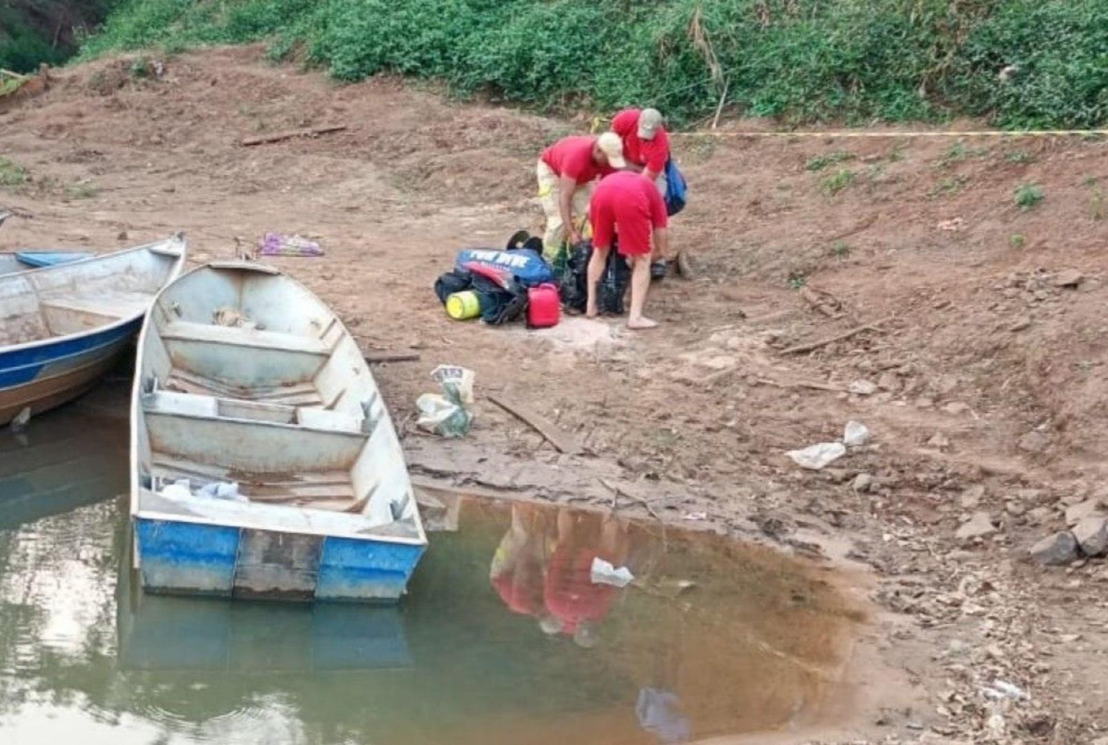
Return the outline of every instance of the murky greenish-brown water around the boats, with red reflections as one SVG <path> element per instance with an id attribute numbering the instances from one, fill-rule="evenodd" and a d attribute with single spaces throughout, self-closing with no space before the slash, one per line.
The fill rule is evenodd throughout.
<path id="1" fill-rule="evenodd" d="M 399 608 L 145 596 L 125 404 L 0 432 L 0 742 L 669 743 L 847 706 L 856 614 L 825 572 L 595 513 L 444 504 Z M 595 557 L 635 581 L 594 584 Z"/>

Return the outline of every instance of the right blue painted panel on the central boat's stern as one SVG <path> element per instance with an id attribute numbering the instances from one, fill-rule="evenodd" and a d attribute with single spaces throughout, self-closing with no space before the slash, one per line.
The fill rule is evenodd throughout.
<path id="1" fill-rule="evenodd" d="M 408 587 L 423 546 L 327 538 L 316 580 L 318 600 L 396 600 Z"/>

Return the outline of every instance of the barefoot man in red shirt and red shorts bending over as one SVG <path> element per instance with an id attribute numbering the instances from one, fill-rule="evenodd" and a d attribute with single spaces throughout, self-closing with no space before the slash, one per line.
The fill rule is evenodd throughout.
<path id="1" fill-rule="evenodd" d="M 623 170 L 605 176 L 589 204 L 593 224 L 593 256 L 588 259 L 588 304 L 585 314 L 596 311 L 596 286 L 616 235 L 619 253 L 632 262 L 630 313 L 628 329 L 653 329 L 655 321 L 643 315 L 646 292 L 650 288 L 650 256 L 666 258 L 669 252 L 669 218 L 666 203 L 657 187 L 636 173 Z M 653 250 L 652 250 L 653 237 Z"/>

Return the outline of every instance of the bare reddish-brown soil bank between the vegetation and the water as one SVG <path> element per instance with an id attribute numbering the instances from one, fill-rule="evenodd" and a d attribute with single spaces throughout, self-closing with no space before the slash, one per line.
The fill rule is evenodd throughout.
<path id="1" fill-rule="evenodd" d="M 655 284 L 663 327 L 527 332 L 452 322 L 431 287 L 456 249 L 538 228 L 534 159 L 585 123 L 391 79 L 339 86 L 261 58 L 186 54 L 148 80 L 129 60 L 59 73 L 0 116 L 0 157 L 31 176 L 0 192 L 22 218 L 0 245 L 110 249 L 185 230 L 202 261 L 267 230 L 317 238 L 325 257 L 277 263 L 367 351 L 421 354 L 378 369 L 398 422 L 435 364 L 476 372 L 468 438 L 402 425 L 417 474 L 607 504 L 604 478 L 638 496 L 624 511 L 645 515 L 645 500 L 684 525 L 868 566 L 883 609 L 871 641 L 915 705 L 865 711 L 829 739 L 1105 735 L 1108 567 L 1044 569 L 1025 553 L 1065 527 L 1065 507 L 1108 500 L 1108 142 L 677 137 L 691 201 L 674 239 L 700 275 Z M 348 128 L 238 144 L 331 122 Z M 1020 208 L 1022 185 L 1042 200 Z M 588 454 L 557 454 L 480 397 L 491 391 L 527 400 Z M 870 445 L 820 472 L 786 456 L 850 420 Z M 977 511 L 995 531 L 958 540 Z M 1029 697 L 986 692 L 997 680 Z"/>

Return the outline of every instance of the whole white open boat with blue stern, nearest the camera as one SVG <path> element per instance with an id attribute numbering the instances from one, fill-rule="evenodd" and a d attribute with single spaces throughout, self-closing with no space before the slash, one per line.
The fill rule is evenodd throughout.
<path id="1" fill-rule="evenodd" d="M 427 547 L 357 342 L 277 269 L 214 262 L 138 340 L 131 514 L 143 589 L 396 601 Z"/>

